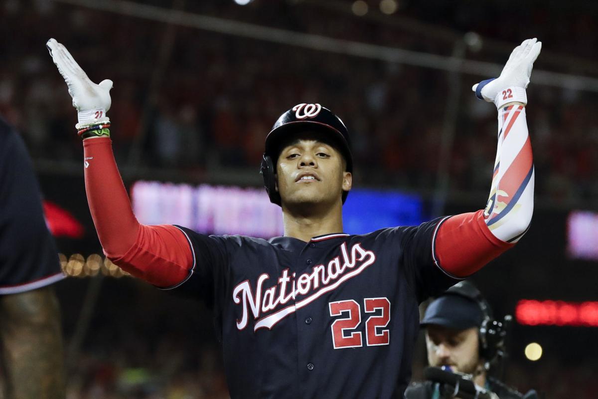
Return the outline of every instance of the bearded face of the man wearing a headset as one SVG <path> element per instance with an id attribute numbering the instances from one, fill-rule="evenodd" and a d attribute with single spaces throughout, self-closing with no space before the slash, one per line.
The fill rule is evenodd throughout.
<path id="1" fill-rule="evenodd" d="M 481 365 L 478 329 L 454 330 L 440 325 L 426 328 L 426 347 L 430 366 L 451 366 L 461 373 L 475 374 Z"/>

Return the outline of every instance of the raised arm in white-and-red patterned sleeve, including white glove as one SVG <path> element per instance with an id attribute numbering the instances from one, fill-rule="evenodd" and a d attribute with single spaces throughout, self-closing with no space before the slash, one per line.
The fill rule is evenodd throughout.
<path id="1" fill-rule="evenodd" d="M 527 133 L 526 87 L 542 48 L 527 39 L 512 51 L 501 76 L 475 84 L 480 99 L 498 108 L 498 145 L 486 209 L 448 218 L 438 229 L 435 261 L 462 278 L 514 245 L 529 229 L 534 168 Z"/>

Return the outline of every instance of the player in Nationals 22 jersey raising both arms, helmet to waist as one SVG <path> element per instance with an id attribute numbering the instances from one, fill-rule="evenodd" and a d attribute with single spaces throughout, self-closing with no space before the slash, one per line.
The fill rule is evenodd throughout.
<path id="1" fill-rule="evenodd" d="M 261 172 L 285 232 L 270 240 L 139 224 L 112 155 L 112 81 L 92 83 L 62 44 L 47 46 L 78 111 L 87 197 L 106 256 L 213 309 L 233 398 L 402 397 L 418 304 L 511 248 L 529 226 L 525 89 L 541 48 L 536 39 L 515 48 L 500 77 L 474 86 L 498 107 L 485 210 L 344 233 L 353 170 L 347 129 L 327 108 L 300 103 L 266 137 Z"/>

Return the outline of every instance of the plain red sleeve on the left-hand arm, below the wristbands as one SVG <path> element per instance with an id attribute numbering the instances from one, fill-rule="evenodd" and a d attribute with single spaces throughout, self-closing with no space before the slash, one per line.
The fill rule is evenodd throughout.
<path id="1" fill-rule="evenodd" d="M 103 251 L 133 276 L 158 287 L 176 285 L 193 265 L 187 238 L 174 226 L 139 224 L 111 144 L 109 138 L 83 141 L 87 202 Z"/>

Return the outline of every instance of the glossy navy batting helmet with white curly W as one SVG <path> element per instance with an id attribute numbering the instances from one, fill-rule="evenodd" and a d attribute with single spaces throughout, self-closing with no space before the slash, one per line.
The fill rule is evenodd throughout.
<path id="1" fill-rule="evenodd" d="M 353 156 L 349 132 L 343 121 L 328 108 L 319 104 L 301 103 L 280 115 L 272 130 L 266 136 L 266 150 L 262 157 L 260 174 L 264 178 L 264 187 L 270 202 L 280 205 L 280 194 L 276 191 L 276 162 L 280 154 L 280 145 L 290 135 L 298 132 L 323 132 L 338 150 L 347 163 L 347 172 L 353 173 Z M 349 191 L 343 191 L 343 203 Z"/>

